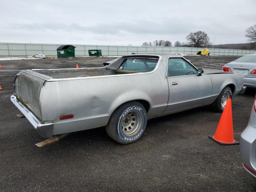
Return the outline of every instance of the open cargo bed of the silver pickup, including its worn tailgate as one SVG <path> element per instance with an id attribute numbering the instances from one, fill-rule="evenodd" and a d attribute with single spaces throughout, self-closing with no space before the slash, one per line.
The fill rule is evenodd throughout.
<path id="1" fill-rule="evenodd" d="M 41 96 L 44 84 L 50 79 L 107 76 L 136 72 L 119 71 L 108 68 L 68 68 L 68 69 L 33 69 L 20 71 L 14 79 L 14 91 L 20 100 L 35 116 L 42 120 Z"/>

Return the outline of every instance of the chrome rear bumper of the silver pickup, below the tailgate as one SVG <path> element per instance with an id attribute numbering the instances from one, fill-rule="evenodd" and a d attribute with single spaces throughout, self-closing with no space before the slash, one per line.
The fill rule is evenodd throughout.
<path id="1" fill-rule="evenodd" d="M 53 132 L 53 123 L 43 124 L 22 102 L 20 102 L 16 96 L 11 96 L 13 104 L 22 112 L 22 114 L 28 119 L 36 131 L 45 138 L 51 138 Z"/>

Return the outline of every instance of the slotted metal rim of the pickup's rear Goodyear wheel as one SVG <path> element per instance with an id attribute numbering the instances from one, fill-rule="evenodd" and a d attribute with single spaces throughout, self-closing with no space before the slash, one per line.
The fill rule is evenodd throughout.
<path id="1" fill-rule="evenodd" d="M 136 135 L 142 127 L 142 116 L 136 111 L 128 112 L 122 119 L 122 132 L 127 137 Z"/>

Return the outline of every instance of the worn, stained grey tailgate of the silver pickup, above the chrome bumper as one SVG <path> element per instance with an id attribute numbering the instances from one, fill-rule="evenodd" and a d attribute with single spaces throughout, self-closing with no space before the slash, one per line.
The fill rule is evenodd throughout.
<path id="1" fill-rule="evenodd" d="M 16 97 L 40 120 L 42 120 L 40 94 L 46 77 L 48 76 L 32 70 L 24 70 L 14 79 Z"/>

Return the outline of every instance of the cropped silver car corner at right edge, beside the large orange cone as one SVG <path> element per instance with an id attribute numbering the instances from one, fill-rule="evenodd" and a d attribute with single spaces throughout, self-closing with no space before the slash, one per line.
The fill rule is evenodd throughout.
<path id="1" fill-rule="evenodd" d="M 256 96 L 249 123 L 241 134 L 240 153 L 244 168 L 256 177 Z"/>

